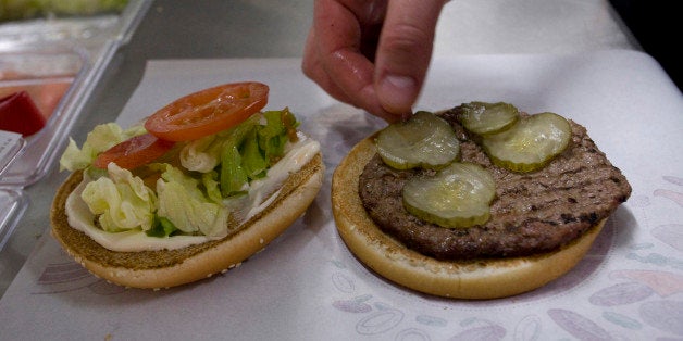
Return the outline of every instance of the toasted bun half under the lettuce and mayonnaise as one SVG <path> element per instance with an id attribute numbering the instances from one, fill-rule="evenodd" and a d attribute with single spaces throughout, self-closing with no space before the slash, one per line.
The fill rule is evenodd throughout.
<path id="1" fill-rule="evenodd" d="M 76 262 L 108 281 L 133 288 L 179 286 L 238 266 L 265 248 L 306 212 L 318 195 L 324 172 L 319 153 L 291 174 L 278 198 L 235 235 L 179 250 L 144 252 L 108 250 L 69 225 L 64 205 L 82 180 L 82 173 L 76 172 L 57 192 L 51 210 L 51 233 Z"/>

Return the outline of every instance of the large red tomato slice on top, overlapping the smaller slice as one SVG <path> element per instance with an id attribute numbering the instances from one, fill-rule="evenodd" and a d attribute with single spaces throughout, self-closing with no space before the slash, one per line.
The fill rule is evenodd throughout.
<path id="1" fill-rule="evenodd" d="M 179 98 L 145 123 L 147 131 L 169 141 L 188 141 L 225 130 L 265 106 L 266 85 L 225 84 Z"/>

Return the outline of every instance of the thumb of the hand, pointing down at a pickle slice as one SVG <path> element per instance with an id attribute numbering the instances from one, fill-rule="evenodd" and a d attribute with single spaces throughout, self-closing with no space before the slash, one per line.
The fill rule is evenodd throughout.
<path id="1" fill-rule="evenodd" d="M 432 59 L 444 0 L 389 1 L 375 58 L 375 91 L 384 110 L 407 115 Z"/>

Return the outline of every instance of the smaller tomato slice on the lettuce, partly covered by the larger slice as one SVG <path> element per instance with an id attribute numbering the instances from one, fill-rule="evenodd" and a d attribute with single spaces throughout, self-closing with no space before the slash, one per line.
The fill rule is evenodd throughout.
<path id="1" fill-rule="evenodd" d="M 133 169 L 163 155 L 175 142 L 164 141 L 151 134 L 129 138 L 97 155 L 92 165 L 107 169 L 110 162 L 122 168 Z"/>

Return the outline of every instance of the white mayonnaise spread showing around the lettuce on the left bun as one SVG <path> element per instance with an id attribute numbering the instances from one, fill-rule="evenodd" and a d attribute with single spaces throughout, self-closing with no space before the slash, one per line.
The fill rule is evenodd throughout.
<path id="1" fill-rule="evenodd" d="M 288 148 L 283 159 L 268 171 L 268 175 L 250 184 L 246 206 L 240 210 L 244 216 L 243 214 L 238 216 L 239 222 L 247 222 L 268 207 L 280 193 L 280 187 L 289 177 L 289 174 L 301 169 L 319 152 L 320 143 L 318 141 L 299 134 L 299 141 Z M 80 182 L 66 200 L 65 209 L 69 225 L 88 235 L 97 243 L 109 250 L 119 252 L 173 250 L 220 239 L 207 236 L 149 237 L 142 230 L 107 232 L 95 226 L 95 215 L 80 199 L 80 193 L 86 185 L 86 181 Z"/>

